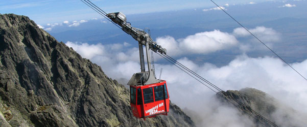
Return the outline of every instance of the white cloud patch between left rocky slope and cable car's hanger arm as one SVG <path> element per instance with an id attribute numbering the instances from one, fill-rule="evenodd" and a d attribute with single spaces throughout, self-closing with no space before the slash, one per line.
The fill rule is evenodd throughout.
<path id="1" fill-rule="evenodd" d="M 112 78 L 130 79 L 131 73 L 139 72 L 138 48 L 125 49 L 128 43 L 102 45 L 66 42 L 68 47 L 72 47 L 82 57 L 101 66 L 105 73 Z"/>

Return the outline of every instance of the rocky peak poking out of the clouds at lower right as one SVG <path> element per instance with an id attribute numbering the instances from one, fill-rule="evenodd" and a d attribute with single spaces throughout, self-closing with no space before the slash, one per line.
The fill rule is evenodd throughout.
<path id="1" fill-rule="evenodd" d="M 224 93 L 219 92 L 216 94 L 216 97 L 224 104 L 239 107 L 243 115 L 250 117 L 254 121 L 255 126 L 274 126 L 263 118 L 258 117 L 255 112 L 261 114 L 277 126 L 305 126 L 307 124 L 306 115 L 300 114 L 285 104 L 281 104 L 263 91 L 254 88 L 244 88 L 239 91 L 227 90 Z M 242 103 L 242 105 L 233 101 L 233 99 Z"/>

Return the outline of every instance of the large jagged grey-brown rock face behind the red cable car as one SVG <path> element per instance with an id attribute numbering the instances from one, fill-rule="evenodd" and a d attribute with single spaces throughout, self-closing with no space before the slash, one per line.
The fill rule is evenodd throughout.
<path id="1" fill-rule="evenodd" d="M 169 116 L 136 119 L 129 91 L 26 16 L 0 15 L 1 126 L 194 126 Z"/>

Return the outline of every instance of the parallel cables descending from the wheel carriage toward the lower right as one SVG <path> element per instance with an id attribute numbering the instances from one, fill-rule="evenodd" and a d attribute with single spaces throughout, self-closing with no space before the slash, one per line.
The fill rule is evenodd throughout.
<path id="1" fill-rule="evenodd" d="M 159 53 L 158 53 L 159 54 Z M 159 54 L 160 55 L 160 54 Z M 162 56 L 163 55 L 163 56 Z M 173 65 L 175 65 L 175 64 L 177 64 L 177 65 L 179 65 L 181 68 L 183 68 L 184 70 L 186 70 L 186 71 L 188 71 L 188 72 L 190 72 L 190 73 L 192 73 L 193 71 L 192 70 L 190 70 L 190 69 L 188 69 L 187 67 L 185 67 L 184 65 L 182 65 L 180 62 L 178 62 L 178 61 L 176 61 L 174 58 L 172 58 L 171 56 L 168 56 L 168 55 L 166 55 L 166 54 L 162 54 L 162 55 L 160 55 L 161 57 L 163 57 L 163 58 L 165 58 L 165 59 L 167 59 L 169 62 L 171 62 Z M 169 60 L 170 59 L 170 60 Z M 177 65 L 175 65 L 176 67 L 178 67 Z M 183 69 L 181 69 L 180 67 L 178 67 L 180 70 L 182 70 L 183 71 Z M 184 71 L 185 73 L 187 73 L 186 71 Z M 188 73 L 187 73 L 188 74 Z M 214 87 L 214 88 L 216 88 L 218 91 L 220 91 L 222 94 L 224 94 L 224 97 L 225 98 L 228 98 L 228 99 L 230 99 L 230 100 L 233 100 L 233 101 L 235 101 L 235 102 L 237 102 L 239 105 L 241 105 L 241 106 L 245 106 L 245 107 L 248 107 L 247 105 L 245 105 L 245 104 L 243 104 L 242 102 L 240 102 L 240 101 L 238 101 L 238 100 L 236 100 L 236 99 L 234 99 L 233 97 L 228 97 L 227 95 L 226 95 L 226 93 L 222 90 L 222 89 L 220 89 L 219 87 L 217 87 L 216 85 L 214 85 L 214 84 L 212 84 L 211 82 L 209 82 L 209 81 L 207 81 L 206 79 L 204 79 L 203 77 L 201 77 L 201 76 L 199 76 L 198 74 L 196 74 L 195 72 L 193 72 L 192 73 L 192 75 L 191 74 L 188 74 L 188 75 L 190 75 L 191 77 L 193 77 L 192 75 L 194 75 L 194 76 L 196 76 L 196 77 L 198 77 L 198 78 L 200 78 L 202 81 L 204 81 L 204 82 L 206 82 L 207 84 L 209 84 L 210 86 L 212 86 L 212 87 Z M 193 77 L 193 78 L 195 78 L 195 77 Z M 196 78 L 195 78 L 196 79 Z M 197 81 L 199 81 L 198 79 L 196 79 Z M 200 82 L 200 81 L 199 81 Z M 202 82 L 201 82 L 202 83 Z M 202 83 L 202 84 L 204 84 L 204 83 Z M 205 85 L 205 84 L 204 84 Z M 207 86 L 207 85 L 205 85 L 205 86 Z M 208 86 L 207 86 L 208 87 Z M 208 87 L 209 88 L 209 87 Z M 210 88 L 211 89 L 211 88 Z M 215 91 L 215 90 L 213 90 L 213 89 L 211 89 L 212 91 Z M 216 92 L 216 91 L 215 91 Z M 220 94 L 220 92 L 216 92 L 216 93 L 218 93 L 219 94 L 219 96 L 222 96 L 221 94 Z M 223 96 L 222 96 L 223 97 Z M 227 99 L 226 99 L 227 100 Z M 230 102 L 229 100 L 227 100 L 228 102 Z M 233 104 L 232 102 L 230 102 L 231 104 Z M 233 104 L 234 106 L 237 106 L 237 105 L 235 105 L 235 104 Z M 239 109 L 241 109 L 239 106 L 237 106 Z M 242 110 L 242 109 L 241 109 Z M 242 110 L 242 111 L 244 111 L 244 110 Z M 254 111 L 253 109 L 250 109 L 250 111 L 252 112 L 252 113 L 254 113 L 256 116 L 258 116 L 259 118 L 262 118 L 264 121 L 266 121 L 266 122 L 268 122 L 269 124 L 272 124 L 273 126 L 277 126 L 275 123 L 273 123 L 273 122 L 271 122 L 269 119 L 267 119 L 267 118 L 265 118 L 264 116 L 262 116 L 261 114 L 259 114 L 259 113 L 257 113 L 256 111 Z M 245 111 L 244 111 L 245 112 Z M 252 116 L 252 115 L 250 115 L 251 117 L 253 117 L 253 118 L 255 118 L 254 116 Z M 264 124 L 265 125 L 265 124 Z M 267 126 L 267 125 L 266 125 Z"/>

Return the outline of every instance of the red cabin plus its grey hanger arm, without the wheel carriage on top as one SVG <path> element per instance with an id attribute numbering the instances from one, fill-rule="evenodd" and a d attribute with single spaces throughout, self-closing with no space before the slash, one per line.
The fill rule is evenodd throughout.
<path id="1" fill-rule="evenodd" d="M 136 118 L 155 117 L 168 115 L 170 96 L 165 80 L 156 79 L 154 66 L 151 69 L 151 57 L 148 45 L 146 47 L 148 70 L 145 71 L 144 55 L 140 52 L 141 72 L 133 74 L 128 82 L 130 85 L 130 106 Z M 139 46 L 143 51 L 143 45 Z M 142 57 L 143 56 L 143 57 Z"/>

